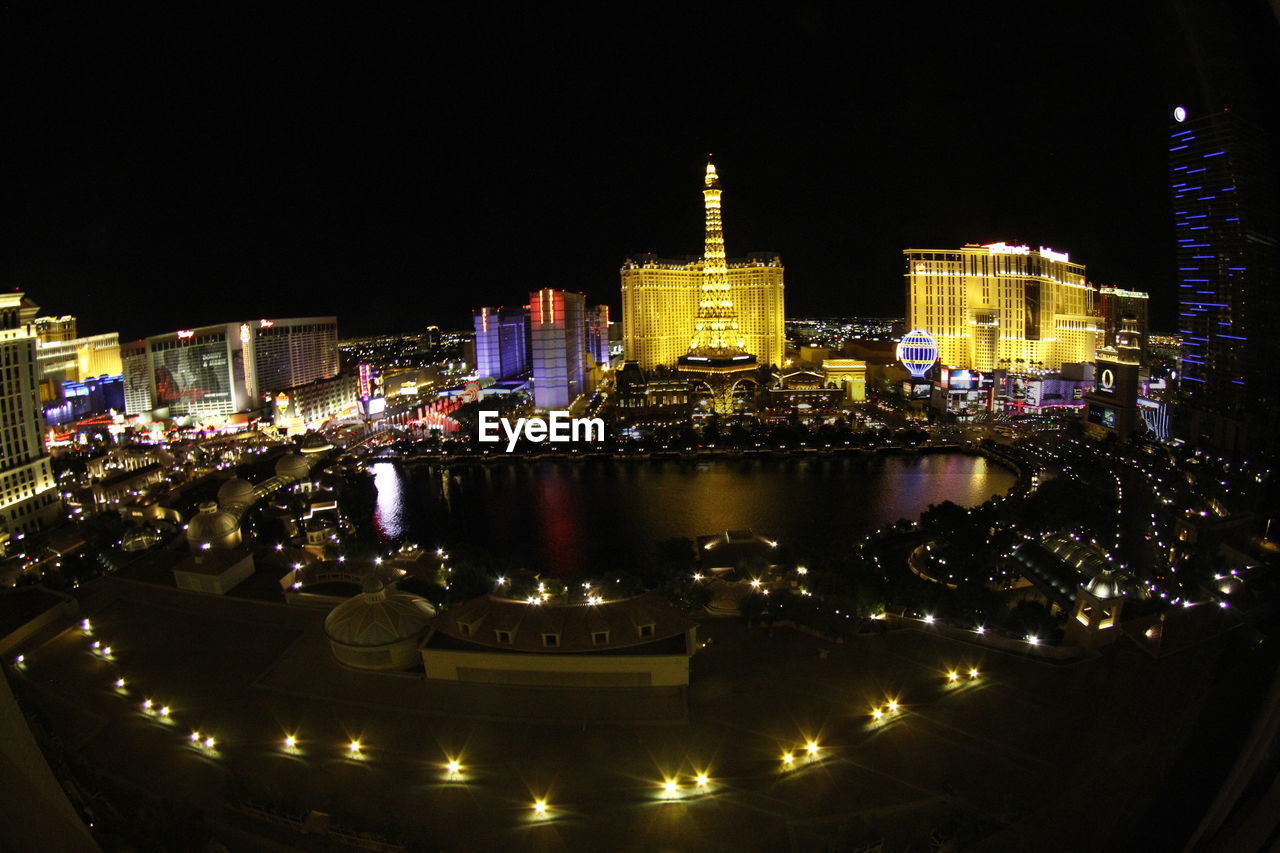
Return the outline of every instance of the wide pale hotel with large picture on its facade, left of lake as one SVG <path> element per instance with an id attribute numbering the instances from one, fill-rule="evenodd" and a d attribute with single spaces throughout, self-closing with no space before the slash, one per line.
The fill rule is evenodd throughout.
<path id="1" fill-rule="evenodd" d="M 124 345 L 128 414 L 230 415 L 264 406 L 275 391 L 338 373 L 335 318 L 221 323 Z"/>

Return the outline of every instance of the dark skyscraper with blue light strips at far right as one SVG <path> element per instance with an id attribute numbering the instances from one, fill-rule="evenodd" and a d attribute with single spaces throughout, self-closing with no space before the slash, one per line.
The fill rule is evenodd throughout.
<path id="1" fill-rule="evenodd" d="M 1274 441 L 1280 352 L 1275 195 L 1262 132 L 1179 106 L 1169 140 L 1178 260 L 1174 432 L 1230 451 Z"/>

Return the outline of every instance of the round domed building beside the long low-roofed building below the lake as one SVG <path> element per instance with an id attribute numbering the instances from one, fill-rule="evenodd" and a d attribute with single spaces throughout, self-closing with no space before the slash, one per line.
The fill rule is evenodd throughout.
<path id="1" fill-rule="evenodd" d="M 408 670 L 422 662 L 417 647 L 434 615 L 425 598 L 388 592 L 380 579 L 370 576 L 364 592 L 329 612 L 324 633 L 339 663 L 360 670 Z"/>

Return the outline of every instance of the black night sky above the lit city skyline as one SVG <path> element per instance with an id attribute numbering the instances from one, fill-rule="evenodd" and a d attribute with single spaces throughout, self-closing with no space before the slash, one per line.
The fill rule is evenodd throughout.
<path id="1" fill-rule="evenodd" d="M 901 315 L 904 247 L 1009 240 L 1167 328 L 1169 109 L 1207 82 L 1274 126 L 1267 3 L 850 5 L 9 8 L 0 283 L 122 338 L 617 306 L 626 255 L 700 254 L 714 152 L 728 254 L 782 255 L 790 316 Z"/>

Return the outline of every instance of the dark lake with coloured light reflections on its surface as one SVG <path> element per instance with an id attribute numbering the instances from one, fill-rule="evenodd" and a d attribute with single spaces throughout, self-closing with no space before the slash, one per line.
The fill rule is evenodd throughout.
<path id="1" fill-rule="evenodd" d="M 655 542 L 728 528 L 826 543 L 915 519 L 931 503 L 982 503 L 1015 479 L 963 453 L 370 469 L 384 537 L 468 542 L 562 576 L 626 569 Z"/>

